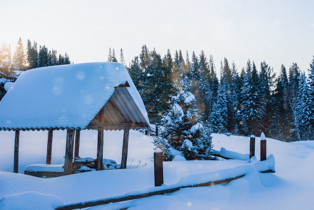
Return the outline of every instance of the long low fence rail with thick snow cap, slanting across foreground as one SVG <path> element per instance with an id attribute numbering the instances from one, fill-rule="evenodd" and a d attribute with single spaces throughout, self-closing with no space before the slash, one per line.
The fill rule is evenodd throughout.
<path id="1" fill-rule="evenodd" d="M 162 153 L 161 153 L 162 154 Z M 104 199 L 97 199 L 92 201 L 83 201 L 78 203 L 70 203 L 56 208 L 56 210 L 73 210 L 92 206 L 105 205 L 108 203 L 116 203 L 123 201 L 130 201 L 143 197 L 154 195 L 163 195 L 166 193 L 176 192 L 181 188 L 212 186 L 216 184 L 228 183 L 230 181 L 239 179 L 243 176 L 257 173 L 257 172 L 275 172 L 275 158 L 269 155 L 265 161 L 257 161 L 256 158 L 250 159 L 250 162 L 243 165 L 238 165 L 233 168 L 226 168 L 219 171 L 211 171 L 201 174 L 191 174 L 184 176 L 179 182 L 171 185 L 161 185 L 149 187 L 147 189 L 135 190 L 127 192 L 121 196 L 107 197 Z"/>

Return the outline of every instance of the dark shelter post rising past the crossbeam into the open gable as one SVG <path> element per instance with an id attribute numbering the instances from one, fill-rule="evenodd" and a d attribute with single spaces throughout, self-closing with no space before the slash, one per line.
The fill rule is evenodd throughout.
<path id="1" fill-rule="evenodd" d="M 104 123 L 104 108 L 101 108 L 98 116 L 98 123 Z M 96 162 L 96 170 L 103 170 L 104 165 L 102 163 L 104 152 L 104 128 L 98 127 L 98 138 L 97 138 L 97 162 Z"/>

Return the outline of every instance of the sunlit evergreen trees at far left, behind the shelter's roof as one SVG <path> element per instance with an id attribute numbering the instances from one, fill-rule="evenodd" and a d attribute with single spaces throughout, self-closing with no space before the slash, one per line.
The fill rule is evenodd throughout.
<path id="1" fill-rule="evenodd" d="M 29 39 L 24 47 L 19 38 L 13 56 L 10 45 L 3 43 L 0 46 L 0 100 L 6 93 L 4 84 L 9 81 L 14 82 L 17 78 L 17 71 L 70 63 L 67 53 L 58 55 L 57 50 L 48 50 L 45 45 L 38 47 L 37 42 L 32 43 Z"/>

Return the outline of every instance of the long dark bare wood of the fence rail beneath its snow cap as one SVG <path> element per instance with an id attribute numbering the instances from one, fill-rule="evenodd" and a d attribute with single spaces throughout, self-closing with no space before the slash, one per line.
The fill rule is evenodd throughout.
<path id="1" fill-rule="evenodd" d="M 209 181 L 209 182 L 200 183 L 197 185 L 174 187 L 174 188 L 169 188 L 169 189 L 164 189 L 164 190 L 156 190 L 156 191 L 152 191 L 152 192 L 147 192 L 147 193 L 143 193 L 143 194 L 109 197 L 109 198 L 100 199 L 100 200 L 73 203 L 73 204 L 63 205 L 63 206 L 57 207 L 56 210 L 81 209 L 81 208 L 87 208 L 87 207 L 92 207 L 92 206 L 105 205 L 105 204 L 108 204 L 111 202 L 116 203 L 116 202 L 129 201 L 129 200 L 134 200 L 134 199 L 139 199 L 139 198 L 149 197 L 149 196 L 154 196 L 154 195 L 163 195 L 163 194 L 167 194 L 167 193 L 171 193 L 171 192 L 176 192 L 176 191 L 180 190 L 181 188 L 198 187 L 198 186 L 211 186 L 211 185 L 215 185 L 215 184 L 227 183 L 227 182 L 239 179 L 243 176 L 244 176 L 244 174 L 240 175 L 240 176 L 236 176 L 234 178 L 218 180 L 218 181 Z"/>

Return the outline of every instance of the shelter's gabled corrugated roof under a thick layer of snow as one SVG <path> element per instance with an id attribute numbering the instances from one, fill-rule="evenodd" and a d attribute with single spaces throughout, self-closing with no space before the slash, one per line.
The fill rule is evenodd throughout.
<path id="1" fill-rule="evenodd" d="M 142 98 L 125 66 L 95 62 L 23 72 L 0 101 L 0 130 L 149 128 Z M 97 115 L 98 114 L 98 115 Z M 116 127 L 116 125 L 119 125 Z"/>

